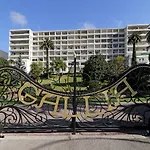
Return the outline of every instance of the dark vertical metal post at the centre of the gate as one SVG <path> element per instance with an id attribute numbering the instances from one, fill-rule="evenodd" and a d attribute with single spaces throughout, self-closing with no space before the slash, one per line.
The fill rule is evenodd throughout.
<path id="1" fill-rule="evenodd" d="M 76 54 L 74 54 L 74 77 L 73 77 L 73 85 L 74 85 L 74 90 L 73 90 L 73 100 L 72 100 L 72 105 L 73 105 L 73 115 L 76 115 Z M 72 128 L 73 128 L 73 134 L 76 133 L 76 117 L 72 117 Z"/>

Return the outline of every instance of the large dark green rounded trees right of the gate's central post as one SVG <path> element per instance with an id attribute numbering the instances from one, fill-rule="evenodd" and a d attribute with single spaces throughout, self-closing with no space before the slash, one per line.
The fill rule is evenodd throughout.
<path id="1" fill-rule="evenodd" d="M 106 86 L 124 69 L 125 58 L 123 56 L 118 56 L 109 62 L 106 62 L 102 55 L 91 56 L 85 62 L 82 78 L 85 86 L 89 86 L 89 89 L 99 89 Z"/>

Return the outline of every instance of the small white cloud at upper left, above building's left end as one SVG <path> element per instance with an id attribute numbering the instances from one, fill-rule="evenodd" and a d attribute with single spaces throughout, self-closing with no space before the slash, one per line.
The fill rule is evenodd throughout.
<path id="1" fill-rule="evenodd" d="M 26 16 L 24 16 L 21 13 L 15 12 L 15 11 L 10 12 L 10 19 L 11 19 L 12 23 L 18 24 L 21 26 L 28 24 L 28 20 L 27 20 Z"/>

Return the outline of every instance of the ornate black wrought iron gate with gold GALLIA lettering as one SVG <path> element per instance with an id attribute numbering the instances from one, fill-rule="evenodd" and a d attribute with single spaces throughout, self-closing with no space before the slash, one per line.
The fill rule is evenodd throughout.
<path id="1" fill-rule="evenodd" d="M 149 65 L 132 67 L 110 85 L 89 91 L 77 81 L 74 63 L 73 75 L 47 86 L 51 88 L 15 67 L 1 67 L 0 130 L 75 132 L 150 125 Z"/>

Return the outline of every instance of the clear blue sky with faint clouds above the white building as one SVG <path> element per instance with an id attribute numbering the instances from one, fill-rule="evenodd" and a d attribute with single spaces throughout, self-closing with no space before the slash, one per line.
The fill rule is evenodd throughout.
<path id="1" fill-rule="evenodd" d="M 8 51 L 9 30 L 125 27 L 150 23 L 150 0 L 1 0 L 0 49 Z"/>

